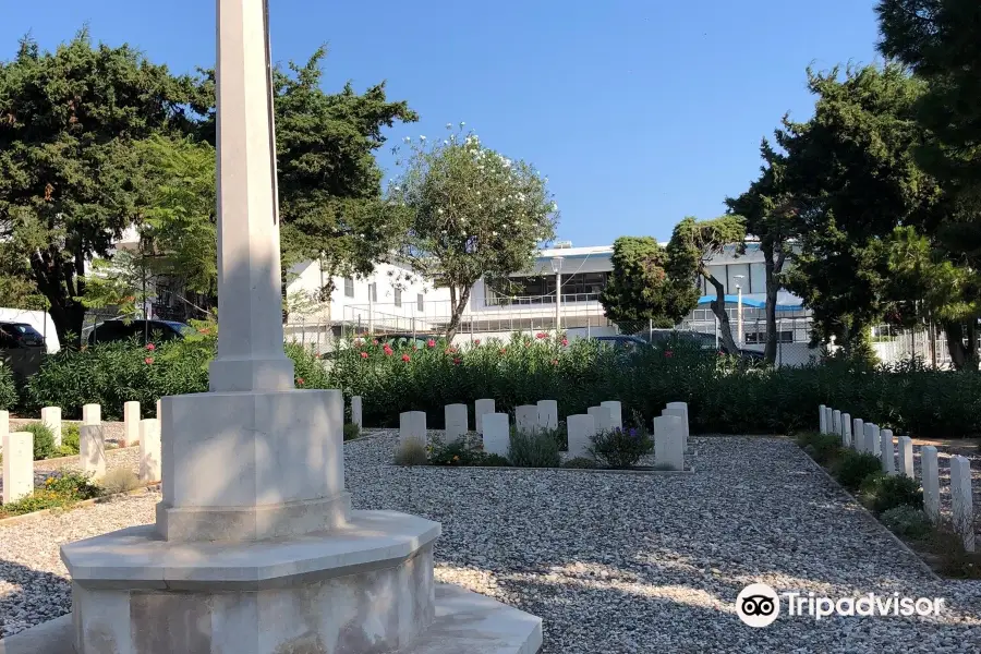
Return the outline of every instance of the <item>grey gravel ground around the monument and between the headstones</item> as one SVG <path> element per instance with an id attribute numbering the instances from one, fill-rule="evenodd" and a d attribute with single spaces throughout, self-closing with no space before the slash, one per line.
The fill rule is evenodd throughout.
<path id="1" fill-rule="evenodd" d="M 693 438 L 692 475 L 401 469 L 396 436 L 344 447 L 358 508 L 443 523 L 436 577 L 544 618 L 546 653 L 981 651 L 981 582 L 937 582 L 795 445 Z M 153 520 L 147 493 L 0 526 L 0 629 L 70 609 L 61 543 Z M 753 582 L 944 597 L 937 618 L 735 615 Z"/>

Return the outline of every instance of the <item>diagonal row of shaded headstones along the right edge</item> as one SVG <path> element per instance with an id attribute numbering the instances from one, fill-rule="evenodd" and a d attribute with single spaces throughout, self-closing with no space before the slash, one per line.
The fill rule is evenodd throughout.
<path id="1" fill-rule="evenodd" d="M 891 429 L 880 429 L 879 425 L 865 423 L 860 417 L 821 404 L 819 425 L 822 434 L 838 434 L 841 445 L 858 452 L 870 453 L 882 461 L 882 470 L 891 475 L 906 475 L 916 479 L 913 472 L 913 445 L 909 436 L 899 436 L 898 467 L 897 452 Z M 932 445 L 920 448 L 920 483 L 923 486 L 923 510 L 934 523 L 940 522 L 940 470 L 937 451 Z M 966 457 L 950 458 L 950 500 L 954 526 L 960 534 L 964 547 L 974 552 L 974 508 L 971 488 L 971 463 Z"/>

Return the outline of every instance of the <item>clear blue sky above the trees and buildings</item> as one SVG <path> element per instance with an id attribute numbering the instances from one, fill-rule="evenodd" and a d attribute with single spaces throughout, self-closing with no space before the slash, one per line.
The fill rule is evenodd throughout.
<path id="1" fill-rule="evenodd" d="M 270 0 L 278 61 L 328 44 L 325 87 L 388 81 L 435 137 L 465 121 L 489 147 L 533 162 L 574 245 L 667 239 L 712 218 L 759 169 L 785 111 L 806 119 L 804 69 L 875 61 L 874 0 Z M 0 58 L 31 32 L 55 48 L 88 23 L 175 72 L 215 61 L 211 0 L 4 2 Z M 390 166 L 386 152 L 379 156 Z"/>

